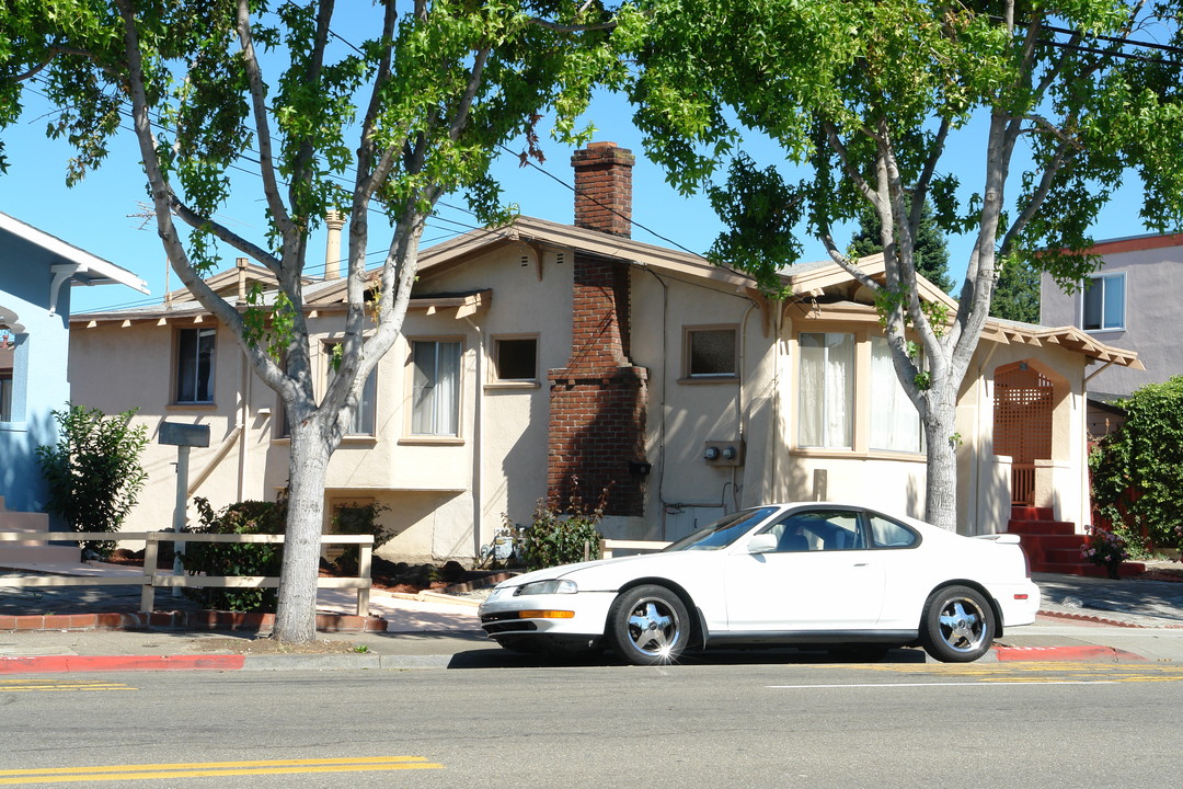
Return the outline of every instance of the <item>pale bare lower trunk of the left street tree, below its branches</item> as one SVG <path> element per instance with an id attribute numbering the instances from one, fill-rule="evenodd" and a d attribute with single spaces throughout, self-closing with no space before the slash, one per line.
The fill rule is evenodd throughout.
<path id="1" fill-rule="evenodd" d="M 293 420 L 295 421 L 295 420 Z M 316 580 L 321 567 L 324 479 L 329 450 L 311 422 L 292 425 L 287 529 L 279 604 L 271 638 L 285 644 L 316 640 Z"/>

